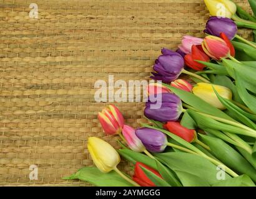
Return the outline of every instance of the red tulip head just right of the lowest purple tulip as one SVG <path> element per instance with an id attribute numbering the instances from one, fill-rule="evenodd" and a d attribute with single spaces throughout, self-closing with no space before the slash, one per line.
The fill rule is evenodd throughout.
<path id="1" fill-rule="evenodd" d="M 197 132 L 194 129 L 187 129 L 181 126 L 179 122 L 167 122 L 164 124 L 164 128 L 187 142 L 191 143 L 197 139 Z"/>

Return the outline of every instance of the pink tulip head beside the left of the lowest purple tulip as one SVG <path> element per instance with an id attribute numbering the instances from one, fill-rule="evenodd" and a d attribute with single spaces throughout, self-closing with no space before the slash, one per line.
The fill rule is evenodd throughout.
<path id="1" fill-rule="evenodd" d="M 143 152 L 145 150 L 144 145 L 135 135 L 135 129 L 133 127 L 124 125 L 124 128 L 122 129 L 122 134 L 126 139 L 126 142 L 130 149 L 134 150 L 135 152 Z"/>

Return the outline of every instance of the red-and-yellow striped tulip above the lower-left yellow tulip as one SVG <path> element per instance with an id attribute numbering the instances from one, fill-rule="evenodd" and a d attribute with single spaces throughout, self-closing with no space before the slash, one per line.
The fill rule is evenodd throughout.
<path id="1" fill-rule="evenodd" d="M 122 113 L 114 105 L 109 105 L 104 108 L 101 113 L 98 113 L 98 119 L 106 134 L 120 134 L 124 126 L 124 118 Z"/>

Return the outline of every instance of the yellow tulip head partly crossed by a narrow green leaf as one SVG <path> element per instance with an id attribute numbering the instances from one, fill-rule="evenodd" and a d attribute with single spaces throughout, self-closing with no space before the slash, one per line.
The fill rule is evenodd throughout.
<path id="1" fill-rule="evenodd" d="M 217 98 L 214 89 L 220 96 L 222 96 L 222 98 L 229 100 L 232 99 L 232 91 L 230 91 L 230 89 L 225 86 L 212 85 L 210 83 L 197 83 L 192 91 L 194 95 L 198 96 L 201 99 L 204 99 L 204 101 L 211 104 L 212 106 L 215 106 L 219 109 L 225 109 L 225 106 Z"/>

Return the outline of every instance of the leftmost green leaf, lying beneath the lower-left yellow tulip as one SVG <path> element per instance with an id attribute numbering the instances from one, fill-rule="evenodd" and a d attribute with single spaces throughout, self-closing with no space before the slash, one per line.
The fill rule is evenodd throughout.
<path id="1" fill-rule="evenodd" d="M 95 185 L 97 187 L 133 187 L 132 184 L 124 180 L 115 171 L 102 173 L 96 167 L 84 167 L 72 174 L 70 177 L 64 177 L 66 180 L 79 179 Z"/>

